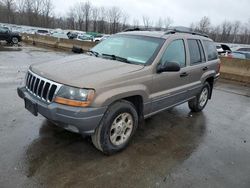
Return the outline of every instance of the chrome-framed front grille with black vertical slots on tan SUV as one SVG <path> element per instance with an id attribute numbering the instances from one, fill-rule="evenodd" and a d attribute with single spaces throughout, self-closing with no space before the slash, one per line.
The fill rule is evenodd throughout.
<path id="1" fill-rule="evenodd" d="M 39 99 L 50 103 L 61 84 L 42 78 L 31 71 L 26 76 L 26 89 Z"/>

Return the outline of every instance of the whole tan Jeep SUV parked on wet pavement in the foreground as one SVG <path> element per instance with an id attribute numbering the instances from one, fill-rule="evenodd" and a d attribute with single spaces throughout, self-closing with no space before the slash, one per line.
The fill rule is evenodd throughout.
<path id="1" fill-rule="evenodd" d="M 203 110 L 219 69 L 216 46 L 206 36 L 131 31 L 85 55 L 30 66 L 18 94 L 35 116 L 91 135 L 97 149 L 113 154 L 145 118 L 185 102 L 193 112 Z"/>

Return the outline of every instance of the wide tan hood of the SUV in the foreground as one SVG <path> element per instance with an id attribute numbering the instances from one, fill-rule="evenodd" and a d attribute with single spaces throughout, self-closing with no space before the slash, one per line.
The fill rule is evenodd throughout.
<path id="1" fill-rule="evenodd" d="M 57 83 L 95 88 L 116 78 L 128 76 L 144 66 L 97 58 L 88 55 L 73 55 L 63 59 L 31 65 L 30 70 L 41 77 Z"/>

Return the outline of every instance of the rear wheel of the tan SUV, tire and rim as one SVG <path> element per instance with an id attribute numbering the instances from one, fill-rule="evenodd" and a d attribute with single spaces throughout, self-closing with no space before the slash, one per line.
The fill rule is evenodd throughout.
<path id="1" fill-rule="evenodd" d="M 211 93 L 211 87 L 208 82 L 205 82 L 200 93 L 196 96 L 196 98 L 188 102 L 190 110 L 192 112 L 202 111 L 207 105 L 210 93 Z"/>

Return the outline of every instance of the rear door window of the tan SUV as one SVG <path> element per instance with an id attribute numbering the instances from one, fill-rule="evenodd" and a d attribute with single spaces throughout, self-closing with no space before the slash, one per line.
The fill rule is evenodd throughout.
<path id="1" fill-rule="evenodd" d="M 188 39 L 188 49 L 190 53 L 190 64 L 198 64 L 205 61 L 205 54 L 200 40 Z"/>

